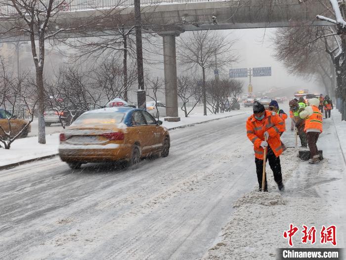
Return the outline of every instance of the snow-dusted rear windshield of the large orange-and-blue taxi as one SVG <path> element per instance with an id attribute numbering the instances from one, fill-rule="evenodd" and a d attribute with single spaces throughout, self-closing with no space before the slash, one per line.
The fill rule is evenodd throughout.
<path id="1" fill-rule="evenodd" d="M 119 124 L 124 119 L 124 113 L 90 113 L 83 114 L 73 123 L 75 126 L 82 125 L 111 125 Z"/>

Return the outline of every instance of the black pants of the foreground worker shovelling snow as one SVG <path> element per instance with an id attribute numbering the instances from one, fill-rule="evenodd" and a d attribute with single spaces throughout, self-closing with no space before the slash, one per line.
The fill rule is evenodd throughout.
<path id="1" fill-rule="evenodd" d="M 270 146 L 268 146 L 267 158 L 269 161 L 269 166 L 271 171 L 274 173 L 274 180 L 277 184 L 282 182 L 282 174 L 281 174 L 281 164 L 280 164 L 280 156 L 276 157 L 274 152 L 271 150 Z M 263 174 L 263 160 L 255 158 L 256 164 L 256 173 L 257 179 L 259 181 L 259 188 L 262 188 L 262 174 Z M 265 185 L 264 189 L 267 189 L 267 174 L 265 173 Z"/>

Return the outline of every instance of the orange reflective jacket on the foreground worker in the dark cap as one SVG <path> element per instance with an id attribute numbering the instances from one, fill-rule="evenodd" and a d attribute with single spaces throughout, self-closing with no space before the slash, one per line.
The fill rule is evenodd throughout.
<path id="1" fill-rule="evenodd" d="M 246 122 L 247 135 L 254 144 L 255 157 L 263 160 L 264 150 L 260 143 L 264 140 L 264 132 L 269 133 L 267 140 L 270 148 L 276 157 L 283 152 L 280 140 L 280 132 L 285 131 L 284 122 L 275 112 L 265 110 L 265 116 L 262 120 L 257 120 L 254 115 L 250 116 Z"/>

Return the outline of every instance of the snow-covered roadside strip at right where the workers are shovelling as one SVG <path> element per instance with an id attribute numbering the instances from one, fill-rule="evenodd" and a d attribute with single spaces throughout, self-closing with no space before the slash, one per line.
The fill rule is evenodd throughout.
<path id="1" fill-rule="evenodd" d="M 299 228 L 293 249 L 346 247 L 346 122 L 341 122 L 338 111 L 332 113 L 333 119 L 323 119 L 323 133 L 317 141 L 324 159 L 309 165 L 298 158 L 297 148 L 288 148 L 280 156 L 285 191 L 278 191 L 268 169 L 269 192 L 261 193 L 254 187 L 234 203 L 234 213 L 203 260 L 274 260 L 278 248 L 290 248 L 283 233 L 291 223 Z M 293 132 L 285 132 L 287 146 L 294 146 L 294 139 Z M 249 178 L 256 179 L 256 173 Z M 302 243 L 303 225 L 316 228 L 315 244 Z M 335 247 L 321 243 L 322 226 L 330 225 L 337 228 Z"/>

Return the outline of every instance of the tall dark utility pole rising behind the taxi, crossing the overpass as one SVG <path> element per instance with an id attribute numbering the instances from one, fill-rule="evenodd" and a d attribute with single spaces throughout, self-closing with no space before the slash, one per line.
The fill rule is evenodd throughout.
<path id="1" fill-rule="evenodd" d="M 140 17 L 140 0 L 134 0 L 134 20 L 136 23 L 136 54 L 137 54 L 137 107 L 146 109 L 145 90 L 144 90 L 144 73 L 143 73 L 143 48 L 142 48 L 142 31 Z"/>

